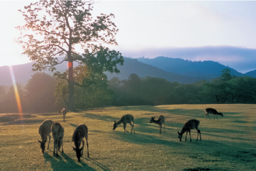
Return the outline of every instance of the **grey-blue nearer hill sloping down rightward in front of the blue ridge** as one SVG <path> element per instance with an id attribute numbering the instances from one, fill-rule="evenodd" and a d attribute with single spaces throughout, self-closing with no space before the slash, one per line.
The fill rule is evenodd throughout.
<path id="1" fill-rule="evenodd" d="M 118 69 L 120 70 L 120 73 L 105 72 L 109 80 L 113 77 L 118 77 L 120 80 L 128 79 L 131 73 L 136 73 L 139 77 L 143 78 L 146 76 L 159 77 L 171 82 L 177 81 L 181 84 L 189 84 L 195 81 L 206 79 L 201 76 L 183 76 L 178 73 L 163 71 L 162 69 L 148 65 L 146 63 L 140 63 L 137 59 L 131 59 L 127 57 L 124 57 L 124 65 L 118 65 Z"/>

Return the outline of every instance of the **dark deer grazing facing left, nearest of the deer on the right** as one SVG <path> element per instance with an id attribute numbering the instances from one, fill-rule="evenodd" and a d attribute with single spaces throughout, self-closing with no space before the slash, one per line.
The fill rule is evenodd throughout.
<path id="1" fill-rule="evenodd" d="M 200 140 L 201 140 L 201 132 L 200 130 L 198 130 L 199 124 L 200 124 L 200 121 L 198 121 L 197 119 L 190 119 L 188 122 L 186 122 L 184 124 L 184 127 L 181 130 L 181 133 L 178 132 L 179 140 L 181 141 L 182 135 L 184 134 L 184 132 L 189 132 L 190 142 L 192 142 L 191 136 L 190 136 L 190 130 L 193 130 L 194 128 L 195 130 L 197 130 L 197 140 L 198 140 L 198 133 L 200 134 Z M 187 135 L 186 135 L 185 141 L 186 140 L 187 140 Z"/>

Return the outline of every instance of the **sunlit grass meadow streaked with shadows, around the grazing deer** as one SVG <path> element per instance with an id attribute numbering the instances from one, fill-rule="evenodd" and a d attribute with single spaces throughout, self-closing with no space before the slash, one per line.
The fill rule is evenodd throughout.
<path id="1" fill-rule="evenodd" d="M 205 120 L 205 108 L 224 115 Z M 135 117 L 135 134 L 124 134 L 123 125 L 113 131 L 113 121 L 124 114 Z M 165 131 L 149 124 L 151 116 L 165 116 Z M 53 156 L 50 148 L 42 154 L 37 139 L 45 120 L 64 127 L 64 153 Z M 178 139 L 184 122 L 200 120 L 202 140 Z M 81 162 L 75 156 L 72 133 L 78 124 L 89 128 L 89 153 Z M 0 170 L 256 170 L 255 105 L 170 105 L 97 108 L 68 113 L 66 122 L 53 114 L 0 114 Z M 131 126 L 127 124 L 127 130 Z M 185 135 L 185 134 L 184 134 Z M 189 135 L 188 135 L 189 138 Z M 48 145 L 48 142 L 46 143 Z"/>

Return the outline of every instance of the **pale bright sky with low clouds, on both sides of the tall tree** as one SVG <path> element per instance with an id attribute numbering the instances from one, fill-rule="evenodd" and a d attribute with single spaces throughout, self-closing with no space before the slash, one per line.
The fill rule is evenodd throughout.
<path id="1" fill-rule="evenodd" d="M 23 25 L 18 9 L 36 0 L 0 6 L 1 65 L 30 62 L 15 42 Z M 213 60 L 241 73 L 256 69 L 255 0 L 97 0 L 92 14 L 113 13 L 124 57 Z"/>

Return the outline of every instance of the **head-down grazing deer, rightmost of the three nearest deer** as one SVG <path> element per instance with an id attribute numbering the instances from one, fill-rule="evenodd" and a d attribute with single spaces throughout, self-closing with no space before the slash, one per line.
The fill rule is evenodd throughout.
<path id="1" fill-rule="evenodd" d="M 80 162 L 80 157 L 83 156 L 83 138 L 86 138 L 87 156 L 89 157 L 88 128 L 86 127 L 86 124 L 79 124 L 78 127 L 75 128 L 75 131 L 72 135 L 72 141 L 75 143 L 75 147 L 73 147 L 73 149 L 78 157 L 78 162 Z M 80 148 L 81 142 L 83 143 L 82 148 Z"/>

